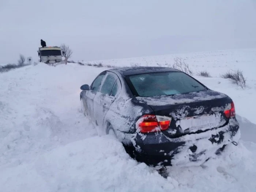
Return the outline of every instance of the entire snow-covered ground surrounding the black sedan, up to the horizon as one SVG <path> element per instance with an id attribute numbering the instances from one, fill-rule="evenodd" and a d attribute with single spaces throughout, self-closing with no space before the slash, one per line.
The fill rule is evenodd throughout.
<path id="1" fill-rule="evenodd" d="M 195 74 L 207 70 L 211 78 L 195 78 L 234 100 L 238 146 L 204 166 L 170 167 L 163 178 L 118 141 L 98 135 L 81 113 L 80 85 L 107 68 L 39 63 L 0 73 L 0 191 L 256 191 L 256 49 L 95 63 L 165 66 L 175 57 L 185 58 Z M 219 77 L 229 69 L 243 70 L 244 90 Z"/>

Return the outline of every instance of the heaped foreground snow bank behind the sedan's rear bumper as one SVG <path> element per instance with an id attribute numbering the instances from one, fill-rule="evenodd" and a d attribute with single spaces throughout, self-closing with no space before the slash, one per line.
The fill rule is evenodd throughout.
<path id="1" fill-rule="evenodd" d="M 154 168 L 131 159 L 121 143 L 96 136 L 53 149 L 31 164 L 4 169 L 1 186 L 12 192 L 253 191 L 255 149 L 253 143 L 232 145 L 223 157 L 204 166 L 168 168 L 165 179 Z"/>

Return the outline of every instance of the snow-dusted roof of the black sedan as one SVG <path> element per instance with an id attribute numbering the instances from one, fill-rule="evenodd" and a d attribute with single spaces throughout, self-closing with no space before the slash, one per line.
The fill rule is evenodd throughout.
<path id="1" fill-rule="evenodd" d="M 114 73 L 120 73 L 122 76 L 129 76 L 135 74 L 144 73 L 157 73 L 157 72 L 180 72 L 180 70 L 165 67 L 125 67 L 125 68 L 115 68 L 108 70 Z"/>

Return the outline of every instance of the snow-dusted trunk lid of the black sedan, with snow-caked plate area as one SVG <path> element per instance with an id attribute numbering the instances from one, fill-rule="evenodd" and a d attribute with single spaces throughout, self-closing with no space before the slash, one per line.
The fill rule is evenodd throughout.
<path id="1" fill-rule="evenodd" d="M 206 90 L 161 97 L 139 97 L 154 110 L 155 115 L 172 118 L 168 137 L 180 137 L 221 127 L 228 121 L 223 111 L 231 99 L 223 93 Z"/>

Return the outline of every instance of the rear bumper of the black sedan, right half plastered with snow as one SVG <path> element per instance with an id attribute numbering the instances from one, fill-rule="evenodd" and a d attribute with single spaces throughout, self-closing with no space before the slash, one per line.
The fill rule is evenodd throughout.
<path id="1" fill-rule="evenodd" d="M 220 148 L 239 139 L 239 124 L 232 118 L 226 126 L 178 138 L 168 138 L 161 132 L 138 133 L 135 153 L 138 161 L 148 165 L 200 165 Z"/>

